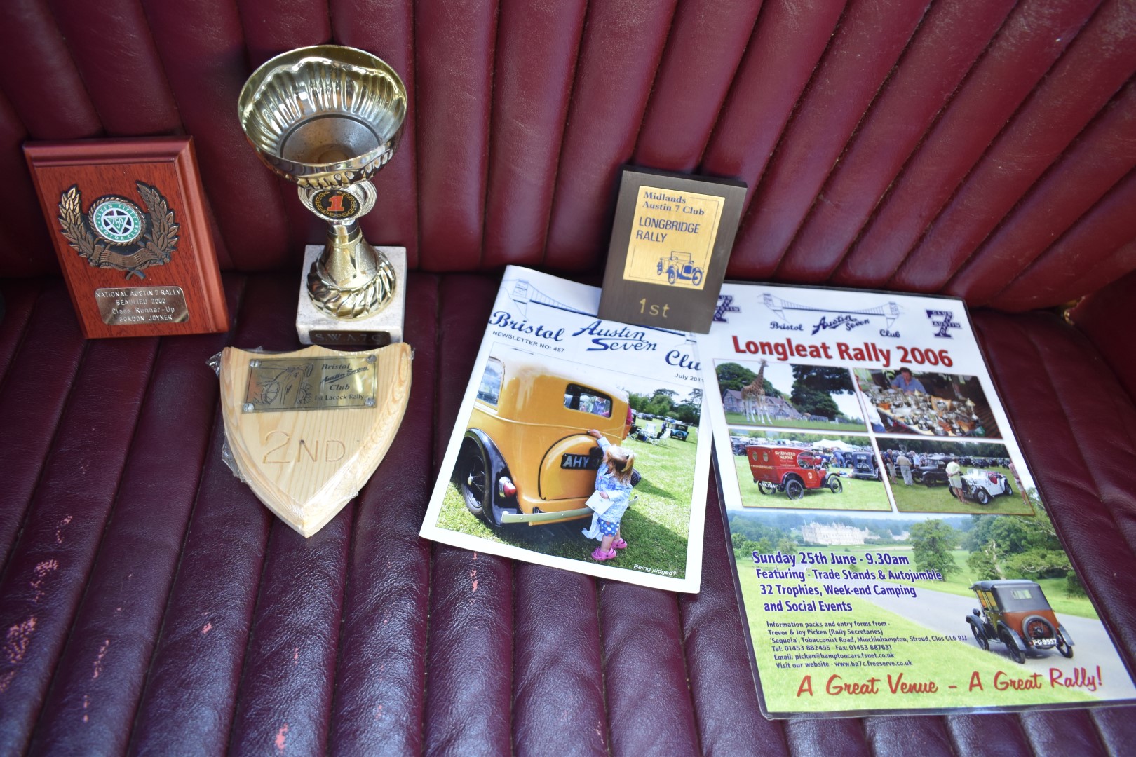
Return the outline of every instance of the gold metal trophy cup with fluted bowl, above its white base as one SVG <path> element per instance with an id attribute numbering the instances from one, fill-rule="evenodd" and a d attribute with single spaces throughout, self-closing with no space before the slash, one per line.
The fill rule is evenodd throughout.
<path id="1" fill-rule="evenodd" d="M 382 59 L 321 44 L 276 56 L 252 73 L 237 102 L 241 127 L 273 171 L 331 224 L 308 272 L 308 294 L 336 318 L 366 318 L 391 301 L 394 269 L 362 238 L 358 219 L 375 207 L 368 180 L 394 154 L 407 87 Z"/>

